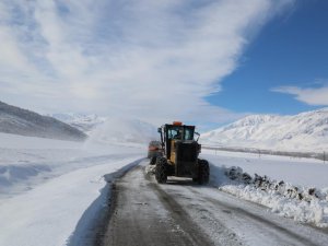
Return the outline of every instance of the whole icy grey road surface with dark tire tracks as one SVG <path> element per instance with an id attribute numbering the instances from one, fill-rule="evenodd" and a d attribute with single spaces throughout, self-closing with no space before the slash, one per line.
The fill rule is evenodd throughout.
<path id="1" fill-rule="evenodd" d="M 278 216 L 214 187 L 169 178 L 144 161 L 115 184 L 104 245 L 328 245 L 327 230 Z"/>

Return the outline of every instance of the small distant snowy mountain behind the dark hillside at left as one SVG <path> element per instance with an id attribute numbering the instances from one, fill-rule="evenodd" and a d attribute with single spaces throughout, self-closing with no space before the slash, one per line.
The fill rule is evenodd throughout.
<path id="1" fill-rule="evenodd" d="M 106 121 L 106 117 L 99 117 L 95 114 L 92 115 L 83 115 L 75 113 L 61 113 L 61 114 L 51 114 L 48 115 L 54 117 L 60 121 L 69 124 L 70 126 L 78 128 L 83 132 L 90 132 L 96 126 Z"/>

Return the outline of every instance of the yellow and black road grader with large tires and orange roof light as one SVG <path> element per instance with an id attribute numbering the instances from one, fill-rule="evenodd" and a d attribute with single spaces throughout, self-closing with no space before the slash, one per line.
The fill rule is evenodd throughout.
<path id="1" fill-rule="evenodd" d="M 167 181 L 167 176 L 189 177 L 202 185 L 209 183 L 210 167 L 206 160 L 198 159 L 201 145 L 195 126 L 186 126 L 174 121 L 159 128 L 163 156 L 155 161 L 155 178 L 157 183 Z M 195 140 L 195 136 L 198 136 Z"/>

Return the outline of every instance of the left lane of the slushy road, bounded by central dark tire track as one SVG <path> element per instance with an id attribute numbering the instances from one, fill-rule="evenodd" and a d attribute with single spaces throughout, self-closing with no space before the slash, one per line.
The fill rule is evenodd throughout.
<path id="1" fill-rule="evenodd" d="M 144 178 L 141 166 L 116 181 L 113 199 L 103 245 L 214 245 L 169 195 Z"/>

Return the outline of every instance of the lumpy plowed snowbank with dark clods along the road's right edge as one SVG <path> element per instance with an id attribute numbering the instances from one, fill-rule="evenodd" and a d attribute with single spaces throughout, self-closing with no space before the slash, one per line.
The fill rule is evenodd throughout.
<path id="1" fill-rule="evenodd" d="M 220 173 L 216 176 L 220 190 L 263 204 L 272 212 L 295 221 L 328 227 L 328 188 L 294 186 L 257 174 L 250 176 L 236 166 L 213 169 Z"/>

